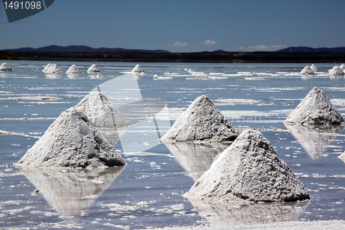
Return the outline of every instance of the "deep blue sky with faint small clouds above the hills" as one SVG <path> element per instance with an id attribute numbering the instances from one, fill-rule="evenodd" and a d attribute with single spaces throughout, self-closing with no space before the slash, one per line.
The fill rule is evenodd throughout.
<path id="1" fill-rule="evenodd" d="M 345 0 L 55 0 L 8 23 L 0 50 L 58 45 L 171 52 L 345 46 Z"/>

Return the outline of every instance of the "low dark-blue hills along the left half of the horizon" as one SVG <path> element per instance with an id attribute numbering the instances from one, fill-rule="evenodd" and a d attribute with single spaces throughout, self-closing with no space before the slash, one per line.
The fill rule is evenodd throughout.
<path id="1" fill-rule="evenodd" d="M 167 53 L 168 50 L 131 50 L 124 48 L 92 48 L 89 46 L 44 46 L 41 48 L 23 47 L 17 49 L 7 49 L 2 51 L 39 51 L 39 52 L 148 52 Z"/>

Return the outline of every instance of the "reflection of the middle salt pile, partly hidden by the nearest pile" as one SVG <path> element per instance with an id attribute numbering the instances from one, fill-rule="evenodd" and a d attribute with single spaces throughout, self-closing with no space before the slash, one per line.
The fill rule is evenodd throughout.
<path id="1" fill-rule="evenodd" d="M 195 181 L 210 168 L 215 157 L 230 146 L 223 143 L 164 142 L 164 144 Z"/>

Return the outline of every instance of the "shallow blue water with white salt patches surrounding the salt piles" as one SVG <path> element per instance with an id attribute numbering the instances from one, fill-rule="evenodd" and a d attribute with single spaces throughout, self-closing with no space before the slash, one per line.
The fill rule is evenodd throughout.
<path id="1" fill-rule="evenodd" d="M 64 72 L 71 65 L 63 61 L 55 63 Z M 98 174 L 24 172 L 12 164 L 61 112 L 75 106 L 91 90 L 97 90 L 97 86 L 121 79 L 135 64 L 97 63 L 103 79 L 86 73 L 92 64 L 89 62 L 77 63 L 82 74 L 75 78 L 42 73 L 48 64 L 44 61 L 8 61 L 8 64 L 12 72 L 0 73 L 1 98 L 61 99 L 0 99 L 0 130 L 10 132 L 3 135 L 0 131 L 1 227 L 145 229 L 206 222 L 239 224 L 248 218 L 271 222 L 345 219 L 345 163 L 337 158 L 345 151 L 345 131 L 339 128 L 328 134 L 326 130 L 303 130 L 302 135 L 297 135 L 301 132 L 282 123 L 314 86 L 324 90 L 344 116 L 344 77 L 322 76 L 334 64 L 317 64 L 318 73 L 313 77 L 298 75 L 306 64 L 141 64 L 146 75 L 128 79 L 137 82 L 140 97 L 164 99 L 168 113 L 159 113 L 155 119 L 131 117 L 131 128 L 115 144 L 127 165 L 124 169 Z M 191 75 L 185 68 L 197 75 Z M 156 74 L 173 78 L 156 81 L 153 79 Z M 226 78 L 212 78 L 215 76 Z M 197 77 L 203 80 L 187 79 Z M 264 79 L 248 81 L 245 79 L 248 77 Z M 132 103 L 140 99 L 137 91 L 130 88 L 135 84 L 126 83 L 130 86 L 126 88 L 124 84 L 123 98 L 115 95 L 112 98 L 120 107 L 123 101 Z M 99 89 L 103 92 L 102 87 Z M 213 100 L 235 127 L 262 131 L 279 157 L 304 183 L 313 200 L 250 207 L 194 204 L 196 209 L 182 197 L 224 146 L 165 146 L 158 137 L 168 131 L 170 124 L 199 95 Z M 135 106 L 135 110 L 140 109 L 140 104 Z M 152 126 L 155 122 L 159 133 L 157 126 Z M 40 190 L 36 195 L 32 194 L 35 189 Z M 251 214 L 243 215 L 244 212 Z"/>

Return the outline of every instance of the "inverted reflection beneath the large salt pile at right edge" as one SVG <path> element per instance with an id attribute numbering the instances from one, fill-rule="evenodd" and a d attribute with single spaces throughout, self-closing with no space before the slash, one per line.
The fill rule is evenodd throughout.
<path id="1" fill-rule="evenodd" d="M 341 125 L 307 127 L 299 124 L 285 124 L 285 126 L 313 159 L 321 157 L 327 146 L 337 138 L 344 128 Z"/>

